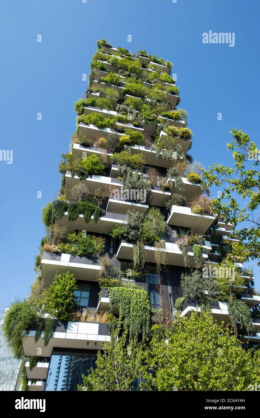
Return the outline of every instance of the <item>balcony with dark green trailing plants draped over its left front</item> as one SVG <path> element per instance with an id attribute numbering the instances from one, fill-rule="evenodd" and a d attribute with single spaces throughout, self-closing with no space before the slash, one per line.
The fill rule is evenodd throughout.
<path id="1" fill-rule="evenodd" d="M 68 212 L 64 212 L 61 219 L 56 219 L 55 223 L 66 227 L 69 234 L 79 231 L 95 232 L 100 234 L 110 234 L 115 224 L 122 224 L 125 219 L 125 215 L 120 213 L 105 212 L 105 214 L 99 218 L 99 221 L 95 224 L 94 216 L 90 217 L 90 221 L 86 224 L 84 215 L 79 214 L 76 221 L 69 222 Z"/>

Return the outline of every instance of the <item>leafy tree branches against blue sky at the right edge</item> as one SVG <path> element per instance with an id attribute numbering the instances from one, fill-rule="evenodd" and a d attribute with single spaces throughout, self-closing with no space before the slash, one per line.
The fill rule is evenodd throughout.
<path id="1" fill-rule="evenodd" d="M 213 199 L 213 205 L 219 217 L 234 225 L 247 222 L 241 229 L 236 229 L 235 237 L 240 242 L 232 243 L 232 255 L 248 261 L 249 258 L 260 259 L 260 218 L 257 213 L 260 205 L 260 172 L 259 150 L 250 137 L 232 128 L 231 143 L 227 149 L 232 150 L 234 168 L 213 164 L 203 171 L 203 178 L 209 185 L 222 187 L 224 190 Z M 246 201 L 244 204 L 240 199 Z M 260 265 L 260 261 L 258 261 Z"/>

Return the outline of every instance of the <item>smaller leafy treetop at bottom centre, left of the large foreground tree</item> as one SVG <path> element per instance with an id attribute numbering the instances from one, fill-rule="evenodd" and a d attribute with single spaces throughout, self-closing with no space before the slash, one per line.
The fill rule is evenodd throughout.
<path id="1" fill-rule="evenodd" d="M 103 352 L 97 353 L 95 369 L 83 376 L 79 391 L 129 391 L 140 375 L 142 349 L 134 344 L 125 344 L 125 339 L 109 342 Z"/>

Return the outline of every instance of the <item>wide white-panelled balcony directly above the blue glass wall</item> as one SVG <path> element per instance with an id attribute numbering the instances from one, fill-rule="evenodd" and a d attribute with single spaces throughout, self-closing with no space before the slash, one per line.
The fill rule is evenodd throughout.
<path id="1" fill-rule="evenodd" d="M 36 352 L 34 336 L 36 327 L 31 326 L 28 335 L 22 339 L 23 353 L 33 356 Z M 43 357 L 51 357 L 54 347 L 62 349 L 102 349 L 102 344 L 110 341 L 107 324 L 97 322 L 56 321 L 54 332 L 47 347 L 43 346 L 43 331 L 37 342 Z"/>

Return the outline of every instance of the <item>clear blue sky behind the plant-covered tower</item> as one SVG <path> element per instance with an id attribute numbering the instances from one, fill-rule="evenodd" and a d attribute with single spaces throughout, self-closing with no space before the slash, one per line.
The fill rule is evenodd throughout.
<path id="1" fill-rule="evenodd" d="M 192 156 L 206 167 L 230 166 L 232 127 L 260 148 L 259 12 L 257 0 L 1 1 L 0 149 L 13 150 L 13 162 L 0 161 L 0 311 L 15 289 L 24 298 L 33 284 L 41 209 L 60 187 L 57 167 L 75 131 L 74 102 L 87 89 L 82 74 L 96 41 L 172 61 Z M 235 33 L 235 45 L 203 43 L 209 31 Z M 248 265 L 260 290 L 260 267 Z"/>

